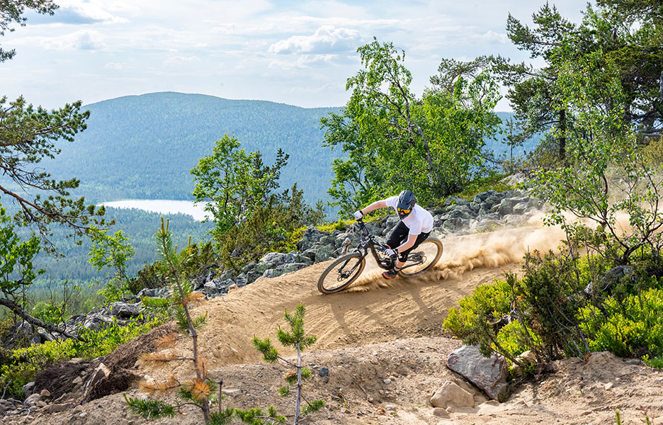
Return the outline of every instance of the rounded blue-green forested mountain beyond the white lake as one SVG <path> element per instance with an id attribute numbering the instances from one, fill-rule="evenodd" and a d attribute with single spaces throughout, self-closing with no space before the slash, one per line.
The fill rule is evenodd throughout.
<path id="1" fill-rule="evenodd" d="M 235 101 L 162 92 L 84 106 L 88 128 L 62 142 L 44 167 L 56 178 L 81 180 L 77 194 L 91 201 L 124 198 L 192 199 L 189 171 L 225 133 L 266 164 L 279 148 L 290 155 L 281 188 L 295 181 L 309 200 L 326 198 L 337 152 L 321 146 L 319 119 L 340 108 L 300 108 L 268 101 Z"/>

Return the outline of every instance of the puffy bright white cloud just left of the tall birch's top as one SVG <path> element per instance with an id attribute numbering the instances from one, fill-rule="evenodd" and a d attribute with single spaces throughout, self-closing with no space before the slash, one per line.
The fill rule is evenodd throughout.
<path id="1" fill-rule="evenodd" d="M 315 30 L 313 35 L 293 35 L 288 40 L 280 40 L 271 45 L 268 52 L 278 55 L 291 53 L 327 54 L 355 50 L 360 43 L 361 35 L 359 31 L 324 25 Z"/>

